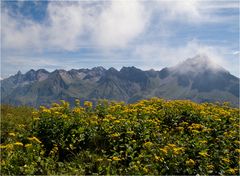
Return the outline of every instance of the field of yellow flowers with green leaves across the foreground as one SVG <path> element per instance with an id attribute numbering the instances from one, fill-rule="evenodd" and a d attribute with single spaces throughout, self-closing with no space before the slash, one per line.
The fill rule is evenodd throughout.
<path id="1" fill-rule="evenodd" d="M 1 174 L 240 174 L 240 110 L 227 104 L 76 100 L 1 113 Z"/>

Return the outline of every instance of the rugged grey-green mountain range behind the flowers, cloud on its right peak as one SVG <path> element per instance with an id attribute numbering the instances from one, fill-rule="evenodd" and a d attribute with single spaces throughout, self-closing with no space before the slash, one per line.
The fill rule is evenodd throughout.
<path id="1" fill-rule="evenodd" d="M 50 105 L 61 99 L 96 101 L 110 99 L 136 102 L 161 97 L 195 102 L 230 102 L 239 105 L 239 78 L 216 65 L 206 55 L 197 55 L 160 71 L 135 67 L 105 69 L 20 71 L 1 80 L 1 103 Z"/>

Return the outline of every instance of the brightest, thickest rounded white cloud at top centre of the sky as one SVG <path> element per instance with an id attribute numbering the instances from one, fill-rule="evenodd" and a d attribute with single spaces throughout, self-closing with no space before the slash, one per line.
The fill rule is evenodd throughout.
<path id="1" fill-rule="evenodd" d="M 94 37 L 100 46 L 124 47 L 144 31 L 147 21 L 140 1 L 112 1 L 96 21 Z"/>

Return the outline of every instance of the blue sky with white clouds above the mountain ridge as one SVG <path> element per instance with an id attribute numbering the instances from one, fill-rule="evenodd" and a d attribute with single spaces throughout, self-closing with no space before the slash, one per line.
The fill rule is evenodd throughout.
<path id="1" fill-rule="evenodd" d="M 1 1 L 1 75 L 161 70 L 205 54 L 239 77 L 239 1 Z"/>

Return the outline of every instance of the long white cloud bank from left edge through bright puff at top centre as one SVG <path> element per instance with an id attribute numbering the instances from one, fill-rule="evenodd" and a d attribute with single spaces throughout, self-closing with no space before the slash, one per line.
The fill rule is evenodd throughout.
<path id="1" fill-rule="evenodd" d="M 3 47 L 67 51 L 86 44 L 124 47 L 144 31 L 147 17 L 143 4 L 135 0 L 99 4 L 52 1 L 42 23 L 12 17 L 3 10 Z"/>

